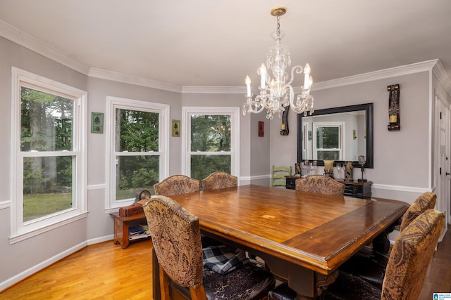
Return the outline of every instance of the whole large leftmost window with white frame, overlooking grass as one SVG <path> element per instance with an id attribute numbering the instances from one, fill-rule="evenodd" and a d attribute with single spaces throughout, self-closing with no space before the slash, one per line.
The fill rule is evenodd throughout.
<path id="1" fill-rule="evenodd" d="M 13 67 L 11 243 L 86 212 L 85 98 Z"/>

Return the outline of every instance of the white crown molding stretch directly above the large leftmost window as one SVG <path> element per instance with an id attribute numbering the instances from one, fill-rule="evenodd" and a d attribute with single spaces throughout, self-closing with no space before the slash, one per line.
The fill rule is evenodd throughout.
<path id="1" fill-rule="evenodd" d="M 13 41 L 20 46 L 39 53 L 46 58 L 56 61 L 56 63 L 61 63 L 61 65 L 70 67 L 70 69 L 82 74 L 87 75 L 89 72 L 87 65 L 83 65 L 77 60 L 70 58 L 66 53 L 56 50 L 3 20 L 0 20 L 0 37 Z"/>

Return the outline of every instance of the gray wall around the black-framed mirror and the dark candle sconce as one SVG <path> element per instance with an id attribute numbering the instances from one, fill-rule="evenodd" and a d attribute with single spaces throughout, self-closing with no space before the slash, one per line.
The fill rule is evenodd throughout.
<path id="1" fill-rule="evenodd" d="M 373 181 L 373 196 L 412 202 L 420 193 L 431 190 L 431 72 L 404 74 L 314 90 L 315 109 L 374 103 L 374 168 L 365 170 Z M 400 84 L 400 131 L 388 131 L 388 91 Z M 297 160 L 296 115 L 288 117 L 290 134 L 280 136 L 280 119 L 271 121 L 271 164 L 292 165 Z M 318 174 L 323 173 L 319 167 Z"/>

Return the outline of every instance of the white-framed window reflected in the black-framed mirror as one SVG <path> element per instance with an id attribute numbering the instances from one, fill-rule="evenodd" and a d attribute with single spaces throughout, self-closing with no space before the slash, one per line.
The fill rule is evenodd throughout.
<path id="1" fill-rule="evenodd" d="M 314 122 L 313 156 L 319 160 L 342 160 L 344 122 Z"/>

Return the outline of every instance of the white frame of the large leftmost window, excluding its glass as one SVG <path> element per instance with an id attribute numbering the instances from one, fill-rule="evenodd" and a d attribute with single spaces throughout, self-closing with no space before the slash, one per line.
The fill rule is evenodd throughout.
<path id="1" fill-rule="evenodd" d="M 73 86 L 11 68 L 11 235 L 10 244 L 45 233 L 87 216 L 87 92 Z M 52 93 L 74 100 L 73 150 L 64 155 L 75 157 L 73 174 L 73 207 L 55 214 L 23 222 L 23 159 L 24 157 L 54 156 L 60 151 L 20 151 L 20 87 Z M 61 151 L 62 152 L 62 151 Z"/>

